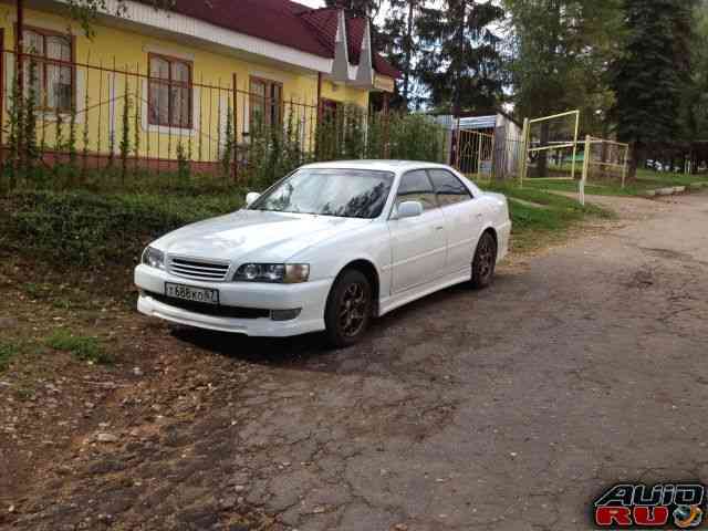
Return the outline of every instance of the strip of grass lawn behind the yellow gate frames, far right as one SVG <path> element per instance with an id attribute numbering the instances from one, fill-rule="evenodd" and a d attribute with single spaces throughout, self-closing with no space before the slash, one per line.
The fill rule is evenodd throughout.
<path id="1" fill-rule="evenodd" d="M 634 183 L 627 183 L 625 188 L 618 183 L 598 184 L 591 183 L 585 186 L 585 194 L 595 196 L 641 196 L 647 190 L 666 188 L 670 186 L 689 186 L 696 183 L 708 183 L 706 175 L 684 175 L 669 174 L 641 169 Z M 577 191 L 577 183 L 558 179 L 527 179 L 523 183 L 527 188 L 555 190 L 555 191 Z"/>

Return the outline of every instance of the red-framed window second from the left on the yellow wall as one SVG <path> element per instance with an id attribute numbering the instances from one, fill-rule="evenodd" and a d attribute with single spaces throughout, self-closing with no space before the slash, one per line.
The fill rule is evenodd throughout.
<path id="1" fill-rule="evenodd" d="M 191 62 L 149 55 L 148 116 L 150 125 L 191 127 Z"/>

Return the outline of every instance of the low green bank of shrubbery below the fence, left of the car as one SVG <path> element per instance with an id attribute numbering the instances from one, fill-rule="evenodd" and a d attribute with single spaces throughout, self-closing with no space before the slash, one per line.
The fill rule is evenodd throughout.
<path id="1" fill-rule="evenodd" d="M 152 239 L 184 225 L 235 211 L 242 194 L 206 196 L 24 191 L 0 205 L 3 247 L 52 260 L 58 268 L 131 264 Z M 2 242 L 0 242 L 2 243 Z"/>

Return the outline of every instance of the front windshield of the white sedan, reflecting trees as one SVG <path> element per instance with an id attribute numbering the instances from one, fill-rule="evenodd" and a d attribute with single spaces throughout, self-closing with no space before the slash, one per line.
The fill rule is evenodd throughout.
<path id="1" fill-rule="evenodd" d="M 250 208 L 373 219 L 381 215 L 394 174 L 365 169 L 299 169 Z"/>

